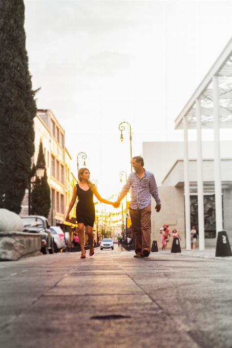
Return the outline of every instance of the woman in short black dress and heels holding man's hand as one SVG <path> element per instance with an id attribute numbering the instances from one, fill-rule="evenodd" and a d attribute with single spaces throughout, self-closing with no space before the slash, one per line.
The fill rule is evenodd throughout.
<path id="1" fill-rule="evenodd" d="M 95 220 L 95 207 L 93 202 L 93 194 L 96 196 L 98 201 L 106 204 L 113 205 L 113 202 L 104 200 L 100 197 L 97 192 L 96 186 L 89 180 L 90 171 L 87 168 L 80 168 L 78 170 L 78 180 L 79 183 L 74 186 L 73 197 L 71 199 L 69 209 L 67 211 L 66 220 L 69 220 L 69 214 L 76 202 L 78 197 L 78 202 L 76 206 L 76 220 L 78 223 L 78 236 L 81 248 L 80 258 L 86 257 L 86 251 L 84 246 L 84 231 L 86 226 L 86 233 L 90 242 L 90 256 L 94 254 L 93 246 L 93 225 Z"/>

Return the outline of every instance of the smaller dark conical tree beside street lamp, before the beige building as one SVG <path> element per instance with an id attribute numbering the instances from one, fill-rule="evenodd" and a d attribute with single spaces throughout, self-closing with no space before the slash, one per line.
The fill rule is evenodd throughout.
<path id="1" fill-rule="evenodd" d="M 37 164 L 43 163 L 46 166 L 43 151 L 43 142 L 40 140 Z M 42 215 L 48 217 L 51 209 L 51 192 L 48 184 L 47 170 L 45 167 L 44 177 L 40 180 L 36 178 L 35 186 L 31 193 L 31 213 L 32 215 Z"/>

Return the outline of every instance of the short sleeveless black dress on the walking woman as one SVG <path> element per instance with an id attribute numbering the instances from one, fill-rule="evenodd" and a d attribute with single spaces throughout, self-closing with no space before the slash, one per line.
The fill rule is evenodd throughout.
<path id="1" fill-rule="evenodd" d="M 79 185 L 76 185 L 78 202 L 76 206 L 77 223 L 82 223 L 85 226 L 93 227 L 95 221 L 95 207 L 93 203 L 93 192 L 91 188 L 87 191 L 82 190 Z"/>

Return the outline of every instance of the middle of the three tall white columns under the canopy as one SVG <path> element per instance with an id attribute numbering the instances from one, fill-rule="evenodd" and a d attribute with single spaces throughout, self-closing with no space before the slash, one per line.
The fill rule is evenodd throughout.
<path id="1" fill-rule="evenodd" d="M 204 235 L 204 192 L 202 171 L 202 140 L 201 140 L 201 100 L 196 99 L 197 109 L 197 193 L 198 193 L 198 230 L 199 250 L 205 248 Z"/>

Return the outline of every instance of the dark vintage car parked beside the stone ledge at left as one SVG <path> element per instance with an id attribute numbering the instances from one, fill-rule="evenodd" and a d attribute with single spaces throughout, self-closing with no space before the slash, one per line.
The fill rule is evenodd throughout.
<path id="1" fill-rule="evenodd" d="M 48 220 L 44 216 L 29 215 L 22 216 L 23 232 L 39 233 L 41 235 L 41 252 L 43 254 L 54 253 L 54 237 L 49 230 Z"/>

